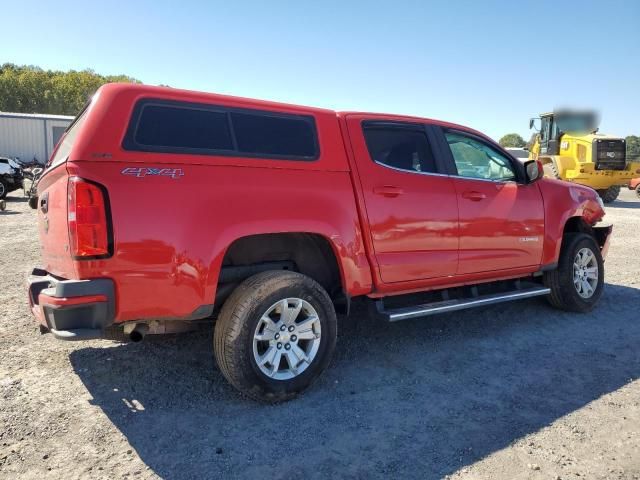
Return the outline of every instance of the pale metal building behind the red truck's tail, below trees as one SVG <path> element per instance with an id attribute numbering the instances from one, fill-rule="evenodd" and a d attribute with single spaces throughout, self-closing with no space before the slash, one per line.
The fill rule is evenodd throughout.
<path id="1" fill-rule="evenodd" d="M 73 117 L 0 112 L 0 157 L 45 163 Z"/>

